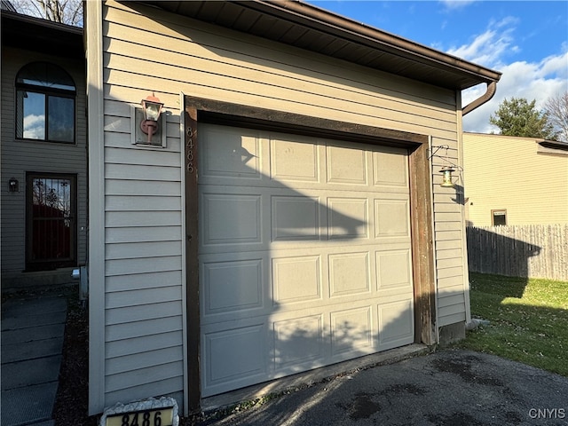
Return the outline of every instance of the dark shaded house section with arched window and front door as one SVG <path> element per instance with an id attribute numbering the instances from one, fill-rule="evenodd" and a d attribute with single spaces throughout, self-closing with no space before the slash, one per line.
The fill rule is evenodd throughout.
<path id="1" fill-rule="evenodd" d="M 83 29 L 2 10 L 2 288 L 87 261 Z M 8 8 L 8 9 L 7 9 Z"/>

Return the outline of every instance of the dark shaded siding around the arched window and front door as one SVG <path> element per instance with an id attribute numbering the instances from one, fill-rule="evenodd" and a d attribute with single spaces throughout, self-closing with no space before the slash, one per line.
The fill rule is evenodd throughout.
<path id="1" fill-rule="evenodd" d="M 15 139 L 15 81 L 20 68 L 37 60 L 59 65 L 75 82 L 75 144 Z M 77 264 L 85 264 L 87 245 L 86 96 L 82 60 L 2 47 L 2 272 L 17 276 L 26 265 L 26 172 L 77 175 Z M 15 177 L 20 192 L 8 193 Z"/>

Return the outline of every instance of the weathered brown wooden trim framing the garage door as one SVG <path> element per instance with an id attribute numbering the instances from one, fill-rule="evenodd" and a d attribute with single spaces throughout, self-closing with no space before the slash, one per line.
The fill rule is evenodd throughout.
<path id="1" fill-rule="evenodd" d="M 185 262 L 187 266 L 185 292 L 187 362 L 189 364 L 187 389 L 190 409 L 199 409 L 201 404 L 197 240 L 198 121 L 408 148 L 414 280 L 414 342 L 429 345 L 436 342 L 436 290 L 432 243 L 431 177 L 428 159 L 429 137 L 427 135 L 185 96 Z"/>

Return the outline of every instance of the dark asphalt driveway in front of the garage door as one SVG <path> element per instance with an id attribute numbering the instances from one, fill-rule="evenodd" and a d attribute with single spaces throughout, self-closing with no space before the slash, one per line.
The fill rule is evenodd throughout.
<path id="1" fill-rule="evenodd" d="M 292 391 L 208 425 L 567 425 L 568 378 L 444 350 Z"/>

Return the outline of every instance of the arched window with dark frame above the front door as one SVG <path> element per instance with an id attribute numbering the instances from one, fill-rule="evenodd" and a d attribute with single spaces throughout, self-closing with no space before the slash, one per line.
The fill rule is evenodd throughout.
<path id="1" fill-rule="evenodd" d="M 49 62 L 32 62 L 16 76 L 16 138 L 75 142 L 75 83 Z"/>

